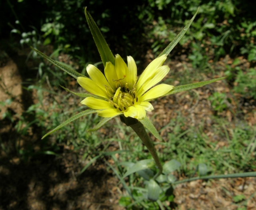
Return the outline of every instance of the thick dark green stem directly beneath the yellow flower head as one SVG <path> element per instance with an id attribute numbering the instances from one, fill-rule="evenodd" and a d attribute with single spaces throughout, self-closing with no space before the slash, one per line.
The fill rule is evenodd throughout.
<path id="1" fill-rule="evenodd" d="M 163 166 L 162 166 L 162 164 L 160 162 L 160 159 L 159 159 L 159 157 L 156 153 L 156 149 L 155 149 L 150 137 L 148 136 L 148 134 L 145 130 L 144 125 L 142 125 L 142 123 L 140 123 L 140 121 L 138 121 L 137 119 L 134 119 L 132 117 L 124 117 L 124 116 L 121 115 L 120 119 L 123 123 L 130 126 L 135 131 L 135 133 L 138 135 L 138 137 L 140 137 L 141 141 L 148 148 L 148 151 L 150 152 L 150 154 L 154 158 L 154 160 L 156 162 L 156 166 L 158 167 L 158 172 L 153 177 L 154 179 L 156 179 L 160 174 L 162 174 Z"/>

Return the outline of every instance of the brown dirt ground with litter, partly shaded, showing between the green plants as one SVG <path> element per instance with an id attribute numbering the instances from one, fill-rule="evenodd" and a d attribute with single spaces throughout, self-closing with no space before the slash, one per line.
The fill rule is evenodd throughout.
<path id="1" fill-rule="evenodd" d="M 8 147 L 10 153 L 1 149 L 0 153 L 0 210 L 124 210 L 118 205 L 118 199 L 123 192 L 122 184 L 108 171 L 104 160 L 99 159 L 92 164 L 86 172 L 77 176 L 81 170 L 80 158 L 70 147 L 62 145 L 62 154 L 58 157 L 53 155 L 36 155 L 24 162 L 15 152 L 14 144 L 17 133 L 15 123 L 33 102 L 33 98 L 26 87 L 26 79 L 34 75 L 26 73 L 29 66 L 22 62 L 24 57 L 16 56 L 2 61 L 0 66 L 1 81 L 5 87 L 0 89 L 0 101 L 12 97 L 13 103 L 2 107 L 0 113 L 0 140 L 1 145 Z M 222 63 L 232 62 L 229 57 L 221 60 Z M 242 60 L 242 58 L 241 58 Z M 186 60 L 168 63 L 173 71 L 182 71 L 183 64 L 189 66 Z M 248 65 L 244 61 L 243 65 Z M 165 79 L 171 77 L 168 74 Z M 206 76 L 207 77 L 207 76 Z M 211 78 L 205 78 L 205 80 Z M 174 85 L 178 85 L 175 81 Z M 22 88 L 23 87 L 23 88 Z M 6 91 L 7 90 L 7 91 Z M 218 81 L 195 90 L 198 95 L 193 99 L 186 92 L 163 97 L 152 102 L 154 111 L 148 113 L 149 117 L 157 114 L 154 118 L 156 127 L 162 128 L 176 118 L 174 110 L 180 110 L 186 117 L 187 124 L 197 126 L 202 118 L 206 120 L 205 133 L 215 141 L 221 139 L 211 132 L 211 118 L 214 112 L 208 100 L 209 93 L 220 91 L 230 94 L 230 90 L 223 81 Z M 250 125 L 256 125 L 255 101 L 244 108 L 244 119 Z M 230 103 L 230 106 L 236 106 Z M 2 113 L 9 110 L 13 113 L 14 121 L 2 119 Z M 235 107 L 234 107 L 235 109 Z M 168 110 L 168 111 L 166 111 Z M 223 113 L 230 123 L 233 115 L 230 111 Z M 41 143 L 38 136 L 39 128 L 33 127 L 29 136 L 24 137 L 21 144 L 30 143 L 34 148 Z M 168 127 L 161 131 L 166 138 Z M 117 148 L 118 149 L 118 148 Z M 111 161 L 109 161 L 111 162 Z M 186 177 L 180 177 L 183 179 Z M 256 178 L 233 178 L 220 180 L 197 180 L 179 184 L 174 189 L 176 209 L 187 210 L 235 210 L 240 204 L 233 201 L 233 196 L 243 194 L 248 210 L 256 210 Z"/>

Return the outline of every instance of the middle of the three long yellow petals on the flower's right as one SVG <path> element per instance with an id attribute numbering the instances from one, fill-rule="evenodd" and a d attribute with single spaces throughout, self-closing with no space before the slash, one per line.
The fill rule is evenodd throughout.
<path id="1" fill-rule="evenodd" d="M 138 97 L 140 97 L 143 93 L 145 93 L 148 89 L 153 87 L 155 84 L 160 82 L 165 75 L 169 72 L 170 68 L 167 65 L 161 66 L 157 69 L 156 74 L 153 76 L 152 79 L 146 81 L 140 90 L 138 91 Z"/>

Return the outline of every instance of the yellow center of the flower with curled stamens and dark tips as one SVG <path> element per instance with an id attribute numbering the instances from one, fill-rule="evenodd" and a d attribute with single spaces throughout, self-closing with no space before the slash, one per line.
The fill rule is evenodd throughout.
<path id="1" fill-rule="evenodd" d="M 126 111 L 129 107 L 138 102 L 136 84 L 134 84 L 131 90 L 129 89 L 127 83 L 125 86 L 120 85 L 120 87 L 117 88 L 116 93 L 114 93 L 114 96 L 111 97 L 108 102 L 115 109 L 119 109 L 121 112 Z"/>

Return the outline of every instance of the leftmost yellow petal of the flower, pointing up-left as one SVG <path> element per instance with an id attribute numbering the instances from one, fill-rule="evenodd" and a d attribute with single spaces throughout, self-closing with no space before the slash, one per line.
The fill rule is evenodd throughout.
<path id="1" fill-rule="evenodd" d="M 77 81 L 82 88 L 86 89 L 88 92 L 109 99 L 106 90 L 101 89 L 92 79 L 86 77 L 77 77 Z"/>

